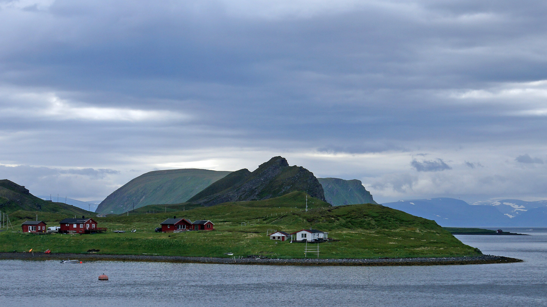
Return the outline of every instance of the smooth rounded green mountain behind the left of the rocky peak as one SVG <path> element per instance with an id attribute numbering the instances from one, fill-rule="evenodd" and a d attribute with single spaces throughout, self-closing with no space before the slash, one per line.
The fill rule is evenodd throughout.
<path id="1" fill-rule="evenodd" d="M 104 199 L 98 213 L 116 214 L 152 204 L 178 204 L 187 201 L 213 182 L 231 172 L 209 169 L 167 169 L 142 174 Z"/>

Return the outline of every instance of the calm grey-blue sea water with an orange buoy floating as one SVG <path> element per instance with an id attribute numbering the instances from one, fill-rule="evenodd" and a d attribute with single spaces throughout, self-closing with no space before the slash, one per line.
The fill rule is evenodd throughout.
<path id="1" fill-rule="evenodd" d="M 547 228 L 459 235 L 524 263 L 298 267 L 0 261 L 0 306 L 547 306 Z M 98 281 L 107 274 L 109 281 Z"/>

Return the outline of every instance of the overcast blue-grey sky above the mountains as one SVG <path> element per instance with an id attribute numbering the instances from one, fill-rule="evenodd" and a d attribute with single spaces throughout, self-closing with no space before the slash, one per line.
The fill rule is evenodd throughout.
<path id="1" fill-rule="evenodd" d="M 103 199 L 286 157 L 377 202 L 547 199 L 545 1 L 0 0 L 0 179 Z"/>

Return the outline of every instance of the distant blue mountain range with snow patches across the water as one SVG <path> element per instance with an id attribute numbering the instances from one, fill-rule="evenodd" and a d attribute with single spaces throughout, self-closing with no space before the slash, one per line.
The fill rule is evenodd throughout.
<path id="1" fill-rule="evenodd" d="M 546 227 L 547 200 L 485 200 L 468 204 L 455 198 L 399 200 L 389 208 L 434 220 L 445 227 Z"/>

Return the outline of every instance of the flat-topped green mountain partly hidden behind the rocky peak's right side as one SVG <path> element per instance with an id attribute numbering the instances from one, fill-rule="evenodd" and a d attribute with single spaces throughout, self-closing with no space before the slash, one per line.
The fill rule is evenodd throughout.
<path id="1" fill-rule="evenodd" d="M 360 180 L 344 180 L 340 178 L 317 178 L 323 186 L 325 199 L 333 206 L 354 204 L 376 204 L 373 196 Z"/>

